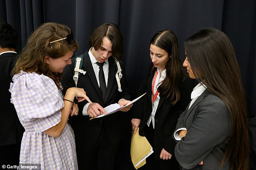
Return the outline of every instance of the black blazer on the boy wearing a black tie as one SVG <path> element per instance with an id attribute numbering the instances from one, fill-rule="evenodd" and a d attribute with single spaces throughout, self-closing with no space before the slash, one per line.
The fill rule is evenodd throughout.
<path id="1" fill-rule="evenodd" d="M 67 65 L 63 71 L 63 81 L 62 84 L 65 88 L 75 87 L 73 80 L 74 75 L 74 63 L 75 58 L 72 58 L 72 64 Z M 101 92 L 97 83 L 97 79 L 90 61 L 88 51 L 84 53 L 84 61 L 82 69 L 86 71 L 86 74 L 81 74 L 78 79 L 78 88 L 84 88 L 86 95 L 90 98 L 92 102 L 99 103 L 103 108 L 109 104 L 117 103 L 121 98 L 130 100 L 128 94 L 126 74 L 124 71 L 124 63 L 120 62 L 122 68 L 122 78 L 120 80 L 122 92 L 118 91 L 118 84 L 115 79 L 115 74 L 117 72 L 116 63 L 113 57 L 109 57 L 109 76 L 107 82 L 107 92 L 106 101 L 104 102 L 101 97 Z M 73 116 L 71 120 L 71 126 L 75 133 L 76 145 L 84 145 L 88 148 L 92 147 L 96 143 L 101 128 L 105 128 L 107 139 L 109 143 L 113 145 L 117 144 L 121 140 L 121 119 L 120 114 L 122 112 L 113 113 L 111 115 L 89 120 L 89 116 L 83 116 L 82 110 L 84 105 L 88 103 L 86 100 L 79 102 L 79 113 L 78 116 Z"/>

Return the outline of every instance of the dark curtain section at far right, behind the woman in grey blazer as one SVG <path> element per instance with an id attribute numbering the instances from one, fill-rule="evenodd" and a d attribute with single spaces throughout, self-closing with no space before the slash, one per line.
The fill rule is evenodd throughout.
<path id="1" fill-rule="evenodd" d="M 225 0 L 221 29 L 235 49 L 248 114 L 256 115 L 256 1 Z"/>

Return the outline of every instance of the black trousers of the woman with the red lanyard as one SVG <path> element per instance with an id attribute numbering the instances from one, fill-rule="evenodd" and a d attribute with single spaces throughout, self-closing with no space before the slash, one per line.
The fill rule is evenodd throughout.
<path id="1" fill-rule="evenodd" d="M 145 126 L 146 138 L 154 150 L 154 129 L 152 122 L 149 127 L 147 125 Z M 157 155 L 157 157 L 160 157 L 160 155 Z M 153 153 L 146 159 L 146 164 L 139 168 L 139 170 L 180 170 L 180 166 L 175 158 L 171 160 L 158 160 Z"/>

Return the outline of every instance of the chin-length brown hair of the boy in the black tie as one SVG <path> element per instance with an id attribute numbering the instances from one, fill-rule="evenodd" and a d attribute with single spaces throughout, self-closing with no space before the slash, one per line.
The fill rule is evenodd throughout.
<path id="1" fill-rule="evenodd" d="M 95 29 L 88 40 L 90 47 L 98 50 L 103 41 L 103 37 L 107 37 L 112 43 L 112 56 L 116 59 L 121 59 L 123 55 L 123 36 L 117 25 L 113 23 L 105 23 Z"/>

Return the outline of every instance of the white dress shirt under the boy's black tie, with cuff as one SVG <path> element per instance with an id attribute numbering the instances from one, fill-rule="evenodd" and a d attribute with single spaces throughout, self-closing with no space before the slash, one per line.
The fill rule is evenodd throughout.
<path id="1" fill-rule="evenodd" d="M 92 50 L 92 48 L 90 48 L 90 50 L 88 51 L 88 54 L 89 54 L 89 57 L 90 57 L 90 61 L 92 63 L 92 68 L 94 70 L 94 73 L 95 73 L 98 85 L 100 87 L 100 80 L 99 80 L 99 71 L 100 71 L 100 69 L 99 69 L 99 66 L 97 65 L 97 60 L 92 55 L 91 50 Z M 106 81 L 106 87 L 107 87 L 107 80 L 109 78 L 109 61 L 108 61 L 108 59 L 105 60 L 105 63 L 103 65 L 103 72 L 104 72 L 105 81 Z M 84 108 L 83 108 L 83 111 L 82 111 L 82 114 L 84 116 L 88 115 L 87 109 L 88 109 L 89 104 L 90 103 L 87 103 L 87 104 L 84 105 Z"/>

